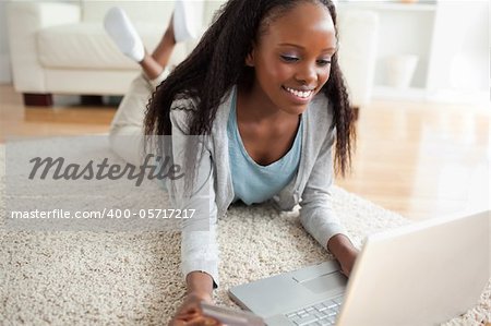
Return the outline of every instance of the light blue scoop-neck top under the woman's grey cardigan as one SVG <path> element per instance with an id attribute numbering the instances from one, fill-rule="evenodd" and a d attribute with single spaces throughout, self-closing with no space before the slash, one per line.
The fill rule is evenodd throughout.
<path id="1" fill-rule="evenodd" d="M 282 191 L 296 176 L 300 164 L 303 119 L 290 150 L 268 166 L 256 164 L 246 150 L 237 125 L 237 96 L 233 94 L 227 123 L 230 172 L 233 184 L 233 202 L 247 205 L 263 203 Z"/>

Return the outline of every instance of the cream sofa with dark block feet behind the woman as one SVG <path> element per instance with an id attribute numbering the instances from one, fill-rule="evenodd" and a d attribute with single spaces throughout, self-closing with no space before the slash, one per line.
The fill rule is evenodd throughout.
<path id="1" fill-rule="evenodd" d="M 224 2 L 195 1 L 203 31 Z M 147 49 L 153 49 L 168 25 L 173 1 L 9 2 L 13 82 L 26 105 L 51 105 L 51 94 L 127 92 L 139 68 L 120 53 L 103 28 L 103 17 L 113 5 L 128 12 Z M 378 19 L 370 12 L 346 12 L 339 21 L 340 64 L 354 106 L 359 107 L 370 100 Z M 170 64 L 182 61 L 194 46 L 195 43 L 179 45 Z"/>

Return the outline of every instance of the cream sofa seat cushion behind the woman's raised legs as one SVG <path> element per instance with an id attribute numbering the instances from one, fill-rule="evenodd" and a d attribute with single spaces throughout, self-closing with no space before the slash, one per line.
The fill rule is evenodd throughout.
<path id="1" fill-rule="evenodd" d="M 147 49 L 153 50 L 165 26 L 135 24 Z M 122 55 L 107 36 L 101 23 L 84 22 L 41 29 L 37 35 L 39 61 L 45 68 L 133 70 L 132 60 Z M 184 47 L 176 47 L 169 64 L 182 61 Z"/>

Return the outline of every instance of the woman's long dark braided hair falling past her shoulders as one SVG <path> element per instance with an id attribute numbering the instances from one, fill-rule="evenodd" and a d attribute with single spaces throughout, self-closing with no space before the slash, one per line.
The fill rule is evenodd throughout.
<path id="1" fill-rule="evenodd" d="M 233 85 L 248 85 L 253 81 L 254 71 L 246 65 L 246 57 L 263 33 L 264 25 L 299 3 L 309 1 L 325 5 L 337 37 L 336 10 L 331 0 L 229 0 L 225 3 L 191 55 L 153 94 L 144 121 L 146 146 L 155 140 L 153 135 L 171 134 L 169 112 L 176 99 L 192 98 L 196 104 L 195 113 L 190 116 L 189 134 L 209 134 L 225 95 Z M 336 130 L 335 167 L 336 172 L 345 176 L 351 165 L 355 128 L 337 53 L 331 58 L 331 75 L 321 92 L 334 109 L 330 130 Z"/>

